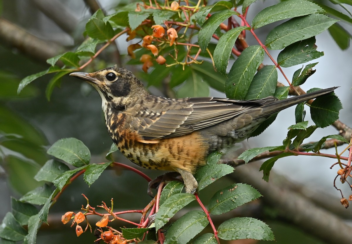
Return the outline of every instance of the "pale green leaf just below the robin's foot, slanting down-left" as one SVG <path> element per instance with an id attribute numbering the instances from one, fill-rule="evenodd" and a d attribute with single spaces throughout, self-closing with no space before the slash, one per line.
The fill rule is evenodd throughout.
<path id="1" fill-rule="evenodd" d="M 155 215 L 156 230 L 163 227 L 181 208 L 195 199 L 195 196 L 190 193 L 177 193 L 166 199 Z"/>

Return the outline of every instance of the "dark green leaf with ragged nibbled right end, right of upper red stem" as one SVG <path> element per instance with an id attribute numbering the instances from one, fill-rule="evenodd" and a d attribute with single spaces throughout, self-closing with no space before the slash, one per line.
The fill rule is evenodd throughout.
<path id="1" fill-rule="evenodd" d="M 299 65 L 323 56 L 323 52 L 316 50 L 315 37 L 295 42 L 282 50 L 277 56 L 277 63 L 281 67 Z"/>

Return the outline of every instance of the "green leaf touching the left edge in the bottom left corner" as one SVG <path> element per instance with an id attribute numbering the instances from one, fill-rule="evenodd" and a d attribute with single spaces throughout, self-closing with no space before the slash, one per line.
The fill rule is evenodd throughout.
<path id="1" fill-rule="evenodd" d="M 8 212 L 0 225 L 0 237 L 18 242 L 23 240 L 27 234 L 19 222 L 15 219 L 12 213 Z"/>

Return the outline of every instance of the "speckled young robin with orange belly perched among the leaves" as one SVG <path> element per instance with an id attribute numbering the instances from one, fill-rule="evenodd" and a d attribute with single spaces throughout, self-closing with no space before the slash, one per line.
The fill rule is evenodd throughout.
<path id="1" fill-rule="evenodd" d="M 180 173 L 194 193 L 193 173 L 211 151 L 240 142 L 270 115 L 332 92 L 336 87 L 278 100 L 195 97 L 171 99 L 149 94 L 125 68 L 70 75 L 99 92 L 108 132 L 122 154 L 147 169 Z"/>

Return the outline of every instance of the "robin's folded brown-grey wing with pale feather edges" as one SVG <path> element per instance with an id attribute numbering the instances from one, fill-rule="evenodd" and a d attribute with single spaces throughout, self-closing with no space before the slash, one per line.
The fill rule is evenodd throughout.
<path id="1" fill-rule="evenodd" d="M 166 100 L 153 106 L 157 109 L 137 114 L 138 133 L 144 140 L 181 136 L 276 100 L 273 97 L 248 101 L 213 97 Z"/>

